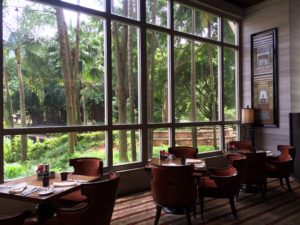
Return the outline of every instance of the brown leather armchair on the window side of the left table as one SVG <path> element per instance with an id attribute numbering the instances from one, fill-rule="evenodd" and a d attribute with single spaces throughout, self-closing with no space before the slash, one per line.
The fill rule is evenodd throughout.
<path id="1" fill-rule="evenodd" d="M 103 161 L 99 158 L 74 158 L 70 159 L 70 166 L 74 168 L 73 174 L 86 176 L 103 175 Z M 56 204 L 72 205 L 86 201 L 86 196 L 82 195 L 80 190 L 62 196 Z"/>

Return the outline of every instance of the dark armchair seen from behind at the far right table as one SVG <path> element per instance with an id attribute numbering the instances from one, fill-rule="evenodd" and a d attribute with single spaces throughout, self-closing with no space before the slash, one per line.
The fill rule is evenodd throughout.
<path id="1" fill-rule="evenodd" d="M 265 198 L 265 191 L 267 185 L 267 171 L 266 171 L 266 153 L 265 152 L 247 152 L 243 153 L 246 157 L 237 167 L 239 172 L 240 183 L 248 187 L 251 185 L 258 185 Z"/>

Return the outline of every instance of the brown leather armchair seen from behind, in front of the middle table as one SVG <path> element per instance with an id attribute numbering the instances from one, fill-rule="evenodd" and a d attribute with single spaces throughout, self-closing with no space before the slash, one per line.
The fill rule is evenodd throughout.
<path id="1" fill-rule="evenodd" d="M 161 210 L 167 213 L 185 212 L 187 223 L 191 224 L 190 208 L 196 205 L 197 188 L 193 179 L 193 165 L 152 167 L 151 190 L 156 204 L 154 224 L 159 222 Z M 195 213 L 195 211 L 194 211 Z M 195 215 L 195 214 L 194 214 Z"/>

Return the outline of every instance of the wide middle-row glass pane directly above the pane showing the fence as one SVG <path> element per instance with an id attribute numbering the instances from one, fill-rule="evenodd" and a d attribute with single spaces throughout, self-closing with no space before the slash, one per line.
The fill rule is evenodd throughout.
<path id="1" fill-rule="evenodd" d="M 176 121 L 218 120 L 218 47 L 176 37 Z"/>

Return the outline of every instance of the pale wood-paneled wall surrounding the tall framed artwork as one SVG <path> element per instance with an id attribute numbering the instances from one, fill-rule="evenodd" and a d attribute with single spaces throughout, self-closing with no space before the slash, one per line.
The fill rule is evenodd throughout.
<path id="1" fill-rule="evenodd" d="M 251 105 L 250 35 L 278 28 L 279 128 L 256 128 L 256 147 L 275 150 L 289 143 L 291 111 L 289 0 L 267 0 L 246 9 L 243 20 L 243 97 L 242 106 Z"/>

